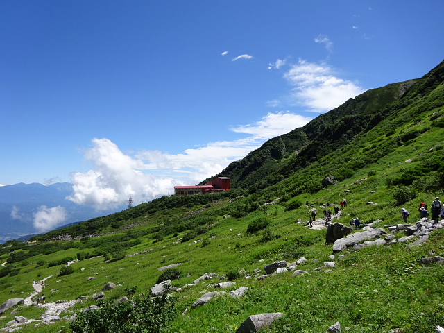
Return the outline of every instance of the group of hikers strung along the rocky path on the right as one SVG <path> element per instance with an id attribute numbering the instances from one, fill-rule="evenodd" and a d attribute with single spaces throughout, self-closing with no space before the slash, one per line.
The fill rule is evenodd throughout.
<path id="1" fill-rule="evenodd" d="M 307 201 L 305 203 L 307 207 L 309 207 L 309 202 Z M 347 200 L 343 199 L 341 201 L 341 208 L 346 207 L 348 205 Z M 330 207 L 330 203 L 327 202 L 327 207 Z M 432 220 L 435 222 L 438 222 L 439 218 L 444 219 L 444 205 L 441 203 L 438 197 L 435 198 L 435 200 L 432 202 L 432 205 L 430 205 L 430 210 L 432 210 Z M 420 219 L 424 217 L 429 217 L 429 210 L 427 203 L 420 203 L 418 207 L 418 211 L 420 213 Z M 309 221 L 307 222 L 307 225 L 309 225 L 310 228 L 313 227 L 313 221 L 316 220 L 316 208 L 312 208 L 310 210 L 311 214 L 309 216 Z M 339 206 L 334 205 L 334 214 L 338 214 L 339 212 Z M 407 223 L 407 219 L 409 219 L 410 212 L 406 210 L 405 208 L 402 208 L 402 219 L 404 220 L 404 223 Z M 332 221 L 332 210 L 324 209 L 324 219 L 325 219 L 325 225 L 330 223 Z M 350 226 L 355 225 L 355 229 L 359 228 L 361 225 L 361 220 L 359 218 L 352 219 L 350 221 Z"/>

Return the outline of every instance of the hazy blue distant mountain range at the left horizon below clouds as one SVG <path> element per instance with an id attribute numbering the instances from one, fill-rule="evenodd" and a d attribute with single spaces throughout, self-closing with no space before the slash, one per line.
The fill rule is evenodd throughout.
<path id="1" fill-rule="evenodd" d="M 0 187 L 0 243 L 9 239 L 17 239 L 28 234 L 39 232 L 34 226 L 35 214 L 46 208 L 63 207 L 65 219 L 53 225 L 53 229 L 61 225 L 87 221 L 97 216 L 112 214 L 117 210 L 96 211 L 92 207 L 78 205 L 67 196 L 72 194 L 69 182 L 58 182 L 53 185 L 39 183 L 5 185 Z M 57 223 L 57 222 L 54 222 Z"/>

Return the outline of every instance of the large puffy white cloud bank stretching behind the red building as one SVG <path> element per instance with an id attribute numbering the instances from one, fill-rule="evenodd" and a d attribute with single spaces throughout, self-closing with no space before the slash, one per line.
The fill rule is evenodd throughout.
<path id="1" fill-rule="evenodd" d="M 257 123 L 231 128 L 247 137 L 187 149 L 183 153 L 139 151 L 123 153 L 109 139 L 93 139 L 85 158 L 92 169 L 71 175 L 74 194 L 68 199 L 96 210 L 125 204 L 131 196 L 137 205 L 165 194 L 176 185 L 195 185 L 259 148 L 266 139 L 305 125 L 310 118 L 289 112 L 269 113 Z"/>

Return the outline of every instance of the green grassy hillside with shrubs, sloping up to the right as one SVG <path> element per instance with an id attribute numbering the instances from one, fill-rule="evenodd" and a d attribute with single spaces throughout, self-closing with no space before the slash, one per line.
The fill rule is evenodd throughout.
<path id="1" fill-rule="evenodd" d="M 349 205 L 334 222 L 349 225 L 359 216 L 364 223 L 380 220 L 376 227 L 383 228 L 402 223 L 406 207 L 415 223 L 418 203 L 444 198 L 443 79 L 441 64 L 423 78 L 370 90 L 266 142 L 221 173 L 235 186 L 223 194 L 163 197 L 28 244 L 9 241 L 0 252 L 6 262 L 0 303 L 26 298 L 33 281 L 46 279 L 47 302 L 78 300 L 60 314 L 69 318 L 97 305 L 92 296 L 107 282 L 117 284 L 105 291 L 114 302 L 149 293 L 163 273 L 182 288 L 171 292 L 179 297 L 169 332 L 235 332 L 250 315 L 278 311 L 285 316 L 264 332 L 325 332 L 336 321 L 350 332 L 433 332 L 444 325 L 444 268 L 420 259 L 444 256 L 442 229 L 422 246 L 373 246 L 332 259 L 325 229 L 306 222 L 309 209 L 322 214 L 327 203 L 333 208 L 345 198 Z M 324 186 L 326 176 L 335 182 Z M 265 265 L 301 257 L 308 260 L 298 269 L 307 274 L 257 280 Z M 65 268 L 72 259 L 79 261 Z M 336 267 L 315 271 L 327 261 Z M 171 264 L 180 266 L 159 270 Z M 216 277 L 184 287 L 205 273 Z M 193 309 L 204 292 L 220 291 L 214 284 L 221 276 L 237 283 L 228 291 L 248 287 L 246 295 L 220 296 Z M 43 312 L 19 305 L 3 314 L 0 326 Z M 20 332 L 71 332 L 70 323 L 29 323 Z"/>

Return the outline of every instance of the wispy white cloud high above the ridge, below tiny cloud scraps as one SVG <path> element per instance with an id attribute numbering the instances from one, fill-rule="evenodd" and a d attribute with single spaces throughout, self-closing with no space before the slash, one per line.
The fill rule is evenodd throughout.
<path id="1" fill-rule="evenodd" d="M 306 60 L 291 65 L 284 78 L 293 86 L 289 103 L 314 112 L 332 110 L 364 92 L 352 81 L 338 78 L 331 67 Z"/>

